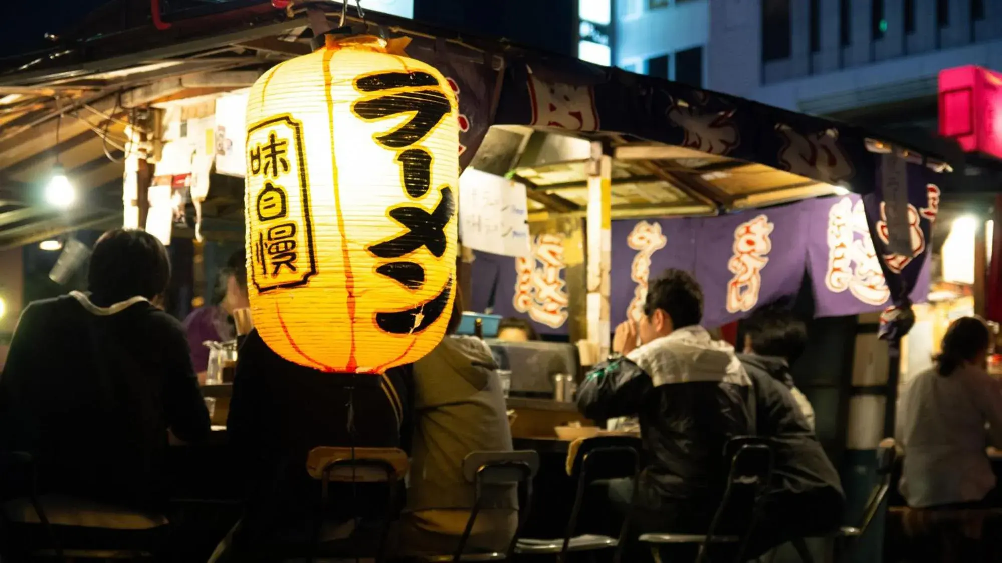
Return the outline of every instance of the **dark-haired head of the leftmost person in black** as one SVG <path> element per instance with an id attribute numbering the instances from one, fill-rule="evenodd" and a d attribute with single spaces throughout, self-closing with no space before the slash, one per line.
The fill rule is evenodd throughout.
<path id="1" fill-rule="evenodd" d="M 94 244 L 87 287 L 95 302 L 110 305 L 137 295 L 153 299 L 170 282 L 170 258 L 146 231 L 114 229 Z"/>

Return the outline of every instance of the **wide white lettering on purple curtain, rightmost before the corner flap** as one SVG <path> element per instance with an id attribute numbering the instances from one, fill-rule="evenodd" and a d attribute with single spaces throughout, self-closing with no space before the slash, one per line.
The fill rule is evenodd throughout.
<path id="1" fill-rule="evenodd" d="M 863 202 L 843 197 L 828 213 L 828 272 L 825 286 L 834 293 L 849 291 L 868 305 L 883 305 L 891 296 L 880 258 L 867 227 Z"/>

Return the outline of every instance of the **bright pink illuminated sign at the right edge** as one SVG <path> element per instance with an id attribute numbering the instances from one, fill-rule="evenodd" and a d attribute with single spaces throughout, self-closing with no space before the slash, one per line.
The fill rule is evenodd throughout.
<path id="1" fill-rule="evenodd" d="M 940 71 L 939 125 L 964 151 L 1002 158 L 1002 73 L 974 65 Z"/>

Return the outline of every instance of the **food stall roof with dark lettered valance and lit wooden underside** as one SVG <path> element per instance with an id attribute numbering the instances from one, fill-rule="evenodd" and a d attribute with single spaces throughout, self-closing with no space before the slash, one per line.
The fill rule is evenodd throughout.
<path id="1" fill-rule="evenodd" d="M 0 61 L 0 248 L 120 224 L 125 125 L 137 112 L 248 86 L 309 52 L 312 36 L 302 10 L 267 1 L 125 24 L 93 18 L 49 50 Z M 517 177 L 536 219 L 585 213 L 594 142 L 612 156 L 616 218 L 711 215 L 873 183 L 867 144 L 883 141 L 858 128 L 394 16 L 366 24 L 410 38 L 409 53 L 444 69 L 468 120 L 463 165 Z M 56 155 L 82 194 L 68 212 L 39 201 Z M 240 202 L 239 180 L 213 175 L 202 214 L 238 225 Z"/>

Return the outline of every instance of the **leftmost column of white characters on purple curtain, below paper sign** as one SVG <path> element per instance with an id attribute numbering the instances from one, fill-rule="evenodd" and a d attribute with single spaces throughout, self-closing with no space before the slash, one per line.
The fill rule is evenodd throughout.
<path id="1" fill-rule="evenodd" d="M 527 313 L 533 321 L 550 328 L 560 328 L 567 322 L 566 282 L 563 271 L 564 236 L 561 234 L 536 235 L 532 255 L 515 259 L 515 296 L 512 305 L 520 313 Z"/>

